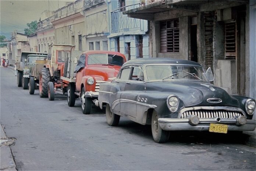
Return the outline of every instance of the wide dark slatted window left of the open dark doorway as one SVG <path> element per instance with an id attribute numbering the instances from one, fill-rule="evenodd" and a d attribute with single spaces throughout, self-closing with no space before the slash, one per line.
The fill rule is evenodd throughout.
<path id="1" fill-rule="evenodd" d="M 179 52 L 179 19 L 160 22 L 160 51 Z"/>

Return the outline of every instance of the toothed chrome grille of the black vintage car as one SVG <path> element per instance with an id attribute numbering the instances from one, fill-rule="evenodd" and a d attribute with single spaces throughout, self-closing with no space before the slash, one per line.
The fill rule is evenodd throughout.
<path id="1" fill-rule="evenodd" d="M 199 118 L 235 118 L 243 116 L 239 111 L 227 111 L 227 110 L 189 110 L 181 114 L 181 118 L 186 118 L 188 115 L 197 115 Z"/>

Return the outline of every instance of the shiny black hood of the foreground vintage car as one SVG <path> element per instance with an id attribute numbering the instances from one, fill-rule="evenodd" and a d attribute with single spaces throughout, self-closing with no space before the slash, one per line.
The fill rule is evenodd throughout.
<path id="1" fill-rule="evenodd" d="M 233 106 L 239 107 L 238 100 L 225 90 L 211 83 L 192 81 L 162 81 L 147 83 L 147 90 L 158 90 L 167 95 L 177 95 L 185 105 L 191 106 Z M 220 103 L 210 103 L 207 99 L 221 99 Z"/>

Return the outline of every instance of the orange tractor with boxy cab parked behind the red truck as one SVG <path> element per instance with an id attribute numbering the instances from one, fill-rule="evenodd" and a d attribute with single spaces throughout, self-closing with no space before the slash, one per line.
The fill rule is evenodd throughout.
<path id="1" fill-rule="evenodd" d="M 61 81 L 64 73 L 65 59 L 70 56 L 74 45 L 51 44 L 49 46 L 47 62 L 42 68 L 39 76 L 39 95 L 54 100 L 55 92 L 61 89 L 63 94 L 67 92 L 67 81 Z"/>

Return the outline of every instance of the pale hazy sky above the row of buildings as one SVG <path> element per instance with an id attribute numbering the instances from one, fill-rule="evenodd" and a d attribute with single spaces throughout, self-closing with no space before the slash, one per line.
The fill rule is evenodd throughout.
<path id="1" fill-rule="evenodd" d="M 11 32 L 24 33 L 27 23 L 39 21 L 45 10 L 55 11 L 74 0 L 0 0 L 0 35 L 10 40 Z"/>

